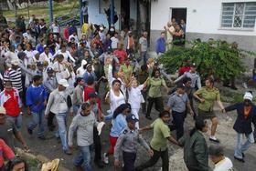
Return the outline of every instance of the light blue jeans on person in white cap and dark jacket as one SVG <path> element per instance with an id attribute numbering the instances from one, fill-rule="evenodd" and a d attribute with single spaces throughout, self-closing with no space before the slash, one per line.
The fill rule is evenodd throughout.
<path id="1" fill-rule="evenodd" d="M 245 143 L 242 142 L 243 136 L 246 136 L 247 141 Z M 242 158 L 242 153 L 245 152 L 251 144 L 254 143 L 253 134 L 240 134 L 237 136 L 237 146 L 235 147 L 235 155 L 238 158 Z"/>

